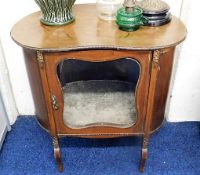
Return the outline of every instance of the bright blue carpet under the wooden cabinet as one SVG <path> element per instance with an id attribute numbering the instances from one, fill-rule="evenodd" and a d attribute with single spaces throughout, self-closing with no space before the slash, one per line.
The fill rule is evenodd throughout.
<path id="1" fill-rule="evenodd" d="M 0 175 L 142 175 L 142 139 L 61 139 L 63 173 L 57 172 L 50 136 L 33 117 L 20 117 L 0 152 Z M 199 175 L 200 124 L 165 123 L 152 135 L 144 175 Z"/>

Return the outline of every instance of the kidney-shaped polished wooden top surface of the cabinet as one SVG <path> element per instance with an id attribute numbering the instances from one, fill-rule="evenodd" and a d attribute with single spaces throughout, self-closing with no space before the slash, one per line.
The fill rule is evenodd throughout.
<path id="1" fill-rule="evenodd" d="M 64 26 L 40 23 L 40 12 L 26 16 L 15 24 L 11 37 L 24 48 L 44 51 L 67 51 L 88 48 L 153 50 L 172 47 L 187 34 L 184 24 L 172 21 L 159 27 L 142 26 L 135 32 L 118 29 L 114 21 L 97 17 L 95 4 L 74 6 L 75 22 Z"/>

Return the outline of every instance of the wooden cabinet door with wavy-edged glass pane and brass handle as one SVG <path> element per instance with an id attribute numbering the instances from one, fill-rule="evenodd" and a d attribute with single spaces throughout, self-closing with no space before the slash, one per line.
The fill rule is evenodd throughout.
<path id="1" fill-rule="evenodd" d="M 59 134 L 143 133 L 151 52 L 87 50 L 44 58 Z"/>

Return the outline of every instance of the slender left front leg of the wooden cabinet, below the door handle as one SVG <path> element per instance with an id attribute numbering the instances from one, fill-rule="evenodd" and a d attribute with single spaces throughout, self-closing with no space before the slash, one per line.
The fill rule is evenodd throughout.
<path id="1" fill-rule="evenodd" d="M 58 164 L 58 171 L 63 171 L 63 165 L 61 160 L 61 153 L 60 153 L 60 146 L 59 141 L 57 137 L 53 137 L 53 146 L 54 146 L 54 157 L 56 159 L 56 162 Z"/>

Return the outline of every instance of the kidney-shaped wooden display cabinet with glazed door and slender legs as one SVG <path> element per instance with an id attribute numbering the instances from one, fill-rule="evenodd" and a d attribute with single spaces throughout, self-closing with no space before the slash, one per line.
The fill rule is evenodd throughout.
<path id="1" fill-rule="evenodd" d="M 40 125 L 53 138 L 143 136 L 144 171 L 151 133 L 163 120 L 175 46 L 186 29 L 164 26 L 120 31 L 97 18 L 94 4 L 76 5 L 76 21 L 50 27 L 40 12 L 19 21 L 11 36 L 22 46 Z"/>

